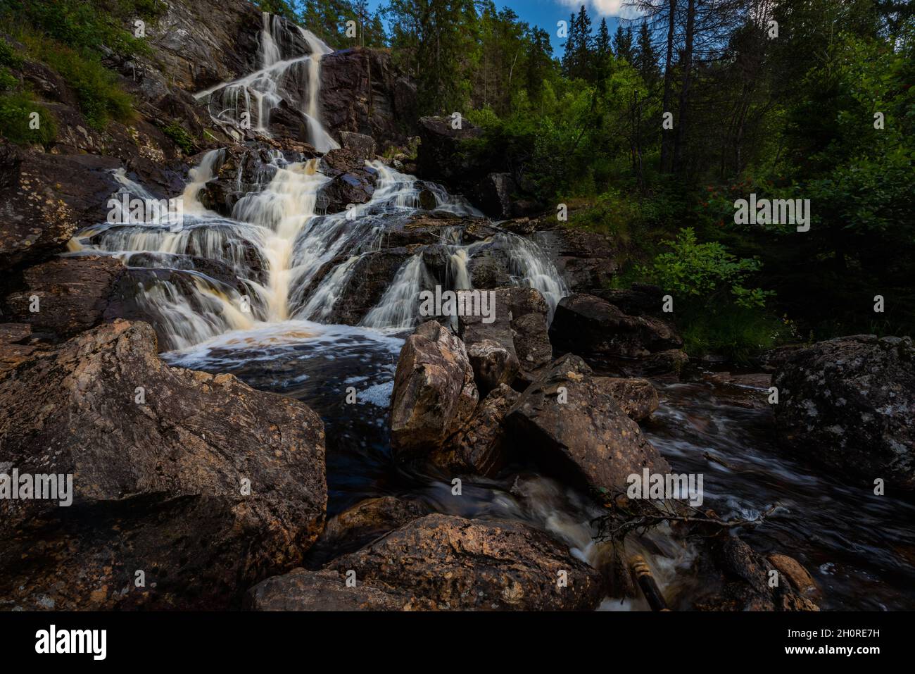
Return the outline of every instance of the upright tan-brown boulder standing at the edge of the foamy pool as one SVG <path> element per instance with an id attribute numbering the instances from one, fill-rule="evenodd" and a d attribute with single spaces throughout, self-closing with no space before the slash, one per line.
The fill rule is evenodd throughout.
<path id="1" fill-rule="evenodd" d="M 394 375 L 395 455 L 405 459 L 440 447 L 464 426 L 477 399 L 464 343 L 436 321 L 420 325 L 404 342 Z"/>

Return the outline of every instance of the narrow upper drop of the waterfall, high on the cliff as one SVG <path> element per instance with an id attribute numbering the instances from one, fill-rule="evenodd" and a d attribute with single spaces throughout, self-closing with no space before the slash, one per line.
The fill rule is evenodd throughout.
<path id="1" fill-rule="evenodd" d="M 319 110 L 321 58 L 333 49 L 310 31 L 279 16 L 264 12 L 263 17 L 260 69 L 238 80 L 221 82 L 195 94 L 195 98 L 207 100 L 215 121 L 248 126 L 265 136 L 270 135 L 271 111 L 285 101 L 305 118 L 308 142 L 318 151 L 339 147 L 321 124 Z"/>

